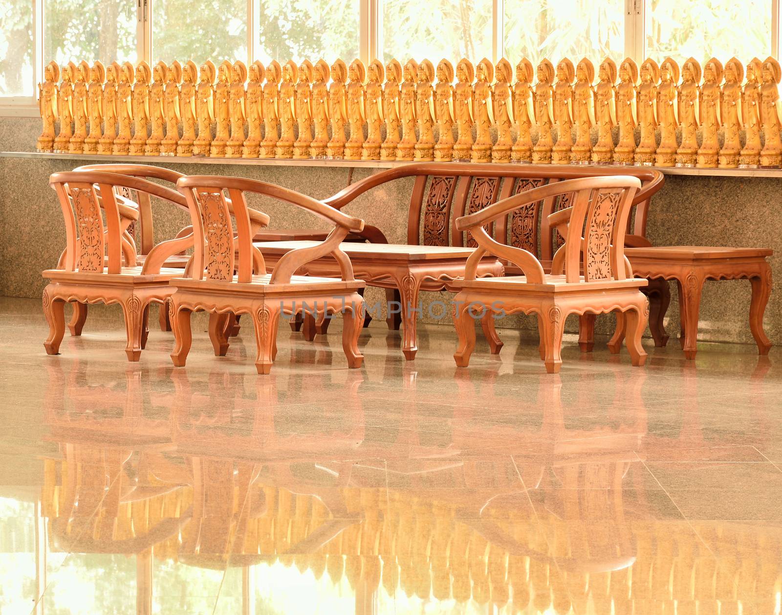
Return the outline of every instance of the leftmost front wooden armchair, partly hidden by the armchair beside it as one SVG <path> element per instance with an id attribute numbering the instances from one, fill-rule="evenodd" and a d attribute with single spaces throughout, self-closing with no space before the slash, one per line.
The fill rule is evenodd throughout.
<path id="1" fill-rule="evenodd" d="M 127 358 L 138 361 L 146 345 L 149 304 L 163 303 L 173 292 L 168 281 L 181 273 L 181 269 L 163 268 L 163 264 L 192 246 L 192 233 L 153 246 L 144 264 L 138 264 L 135 251 L 122 249 L 117 192 L 131 189 L 180 206 L 186 203 L 185 197 L 144 179 L 99 171 L 55 173 L 49 178 L 49 185 L 57 192 L 63 210 L 66 249 L 59 268 L 43 272 L 44 278 L 51 280 L 43 293 L 49 324 L 46 352 L 59 353 L 66 303 L 120 304 L 127 333 Z M 81 333 L 87 314 L 81 306 L 78 309 L 81 321 L 77 322 L 74 335 Z"/>

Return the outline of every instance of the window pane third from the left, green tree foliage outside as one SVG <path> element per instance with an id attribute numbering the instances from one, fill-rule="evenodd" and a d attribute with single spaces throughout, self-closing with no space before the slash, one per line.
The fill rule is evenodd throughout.
<path id="1" fill-rule="evenodd" d="M 155 62 L 247 59 L 247 0 L 156 0 L 153 10 Z"/>

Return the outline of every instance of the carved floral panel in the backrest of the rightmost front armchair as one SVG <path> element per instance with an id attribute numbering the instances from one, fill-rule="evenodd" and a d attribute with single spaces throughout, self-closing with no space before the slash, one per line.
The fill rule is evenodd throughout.
<path id="1" fill-rule="evenodd" d="M 592 197 L 584 236 L 583 268 L 587 280 L 612 279 L 611 246 L 622 192 L 601 190 Z"/>

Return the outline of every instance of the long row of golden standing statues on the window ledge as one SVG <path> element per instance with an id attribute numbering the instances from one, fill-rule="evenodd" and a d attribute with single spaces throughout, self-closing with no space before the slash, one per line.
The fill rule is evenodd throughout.
<path id="1" fill-rule="evenodd" d="M 606 58 L 597 85 L 587 58 L 575 67 L 561 59 L 556 69 L 543 59 L 536 71 L 525 58 L 511 85 L 513 73 L 507 59 L 496 66 L 461 59 L 455 71 L 447 59 L 437 67 L 428 59 L 404 67 L 396 59 L 369 67 L 359 59 L 350 67 L 342 59 L 330 67 L 322 59 L 267 67 L 224 61 L 217 69 L 174 61 L 152 70 L 145 62 L 62 70 L 52 62 L 39 85 L 38 150 L 659 167 L 782 162 L 782 70 L 772 57 L 746 69 L 736 58 L 724 67 L 712 58 L 703 69 L 694 58 L 681 68 L 649 58 L 640 70 L 633 59 L 617 68 Z"/>

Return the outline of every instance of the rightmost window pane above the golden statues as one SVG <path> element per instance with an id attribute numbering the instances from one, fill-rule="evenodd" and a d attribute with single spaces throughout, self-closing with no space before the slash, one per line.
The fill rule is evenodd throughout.
<path id="1" fill-rule="evenodd" d="M 771 8 L 767 0 L 649 0 L 646 51 L 683 63 L 690 56 L 704 63 L 714 56 L 747 62 L 765 59 L 771 49 Z"/>

